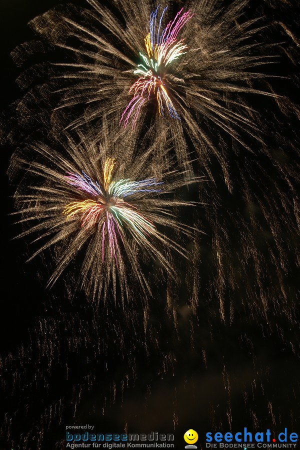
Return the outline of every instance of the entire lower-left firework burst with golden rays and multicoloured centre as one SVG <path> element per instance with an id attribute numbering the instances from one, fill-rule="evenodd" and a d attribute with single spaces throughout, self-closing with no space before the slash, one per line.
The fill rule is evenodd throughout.
<path id="1" fill-rule="evenodd" d="M 28 154 L 14 154 L 10 173 L 25 169 L 15 199 L 21 222 L 34 223 L 21 233 L 33 233 L 39 242 L 31 258 L 54 247 L 56 267 L 49 284 L 83 253 L 77 278 L 87 294 L 105 299 L 112 289 L 114 297 L 123 300 L 131 290 L 128 277 L 149 291 L 144 268 L 151 258 L 158 271 L 174 276 L 172 251 L 186 254 L 177 233 L 191 232 L 174 212 L 192 203 L 174 199 L 171 191 L 195 178 L 177 171 L 165 176 L 161 156 L 155 157 L 157 142 L 136 159 L 134 139 L 110 142 L 108 136 L 104 126 L 101 144 L 76 144 L 70 136 L 59 150 L 35 144 L 33 162 L 26 162 Z"/>

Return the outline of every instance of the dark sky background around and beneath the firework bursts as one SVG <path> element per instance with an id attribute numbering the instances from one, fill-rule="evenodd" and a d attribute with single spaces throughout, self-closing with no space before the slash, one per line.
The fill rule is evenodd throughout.
<path id="1" fill-rule="evenodd" d="M 21 96 L 20 90 L 14 83 L 21 69 L 14 65 L 9 53 L 17 44 L 34 37 L 26 26 L 27 21 L 57 3 L 57 0 L 1 0 L 0 2 L 0 85 L 2 86 L 0 104 L 4 109 L 1 120 L 5 120 L 9 114 L 9 104 Z M 77 3 L 82 4 L 79 1 Z M 274 3 L 271 4 L 274 5 Z M 253 9 L 253 3 L 250 5 Z M 279 19 L 283 8 L 280 2 L 276 5 L 276 8 L 266 6 L 266 10 Z M 295 30 L 293 8 L 295 9 L 295 5 L 286 3 L 284 19 L 285 23 L 289 23 Z M 287 90 L 289 94 L 290 89 L 287 88 Z M 2 412 L 8 411 L 8 417 L 12 417 L 14 411 L 18 411 L 10 439 L 13 438 L 17 443 L 19 434 L 30 432 L 31 437 L 34 433 L 37 436 L 42 429 L 47 439 L 40 448 L 50 450 L 54 448 L 55 442 L 62 439 L 64 426 L 68 423 L 90 422 L 95 424 L 99 432 L 100 429 L 105 429 L 107 432 L 121 432 L 124 423 L 128 424 L 129 431 L 134 432 L 151 430 L 173 432 L 173 421 L 178 419 L 175 431 L 176 444 L 177 448 L 183 448 L 184 442 L 181 436 L 186 429 L 198 430 L 199 436 L 200 434 L 202 436 L 201 444 L 203 444 L 206 431 L 229 430 L 227 419 L 228 414 L 231 413 L 233 417 L 231 425 L 235 431 L 239 431 L 243 426 L 251 429 L 256 423 L 255 431 L 264 431 L 266 427 L 270 427 L 273 431 L 281 431 L 287 426 L 290 431 L 298 431 L 300 434 L 300 366 L 296 321 L 291 320 L 290 323 L 293 325 L 289 326 L 288 321 L 283 317 L 284 314 L 281 317 L 278 314 L 271 317 L 269 326 L 268 323 L 259 322 L 257 318 L 255 320 L 248 317 L 242 310 L 239 311 L 233 323 L 229 321 L 224 323 L 219 317 L 217 303 L 209 304 L 207 295 L 204 293 L 199 294 L 198 321 L 194 334 L 196 342 L 193 348 L 189 347 L 189 316 L 183 300 L 179 308 L 179 342 L 174 343 L 168 339 L 167 323 L 162 329 L 160 328 L 163 351 L 175 357 L 174 375 L 172 370 L 163 374 L 160 357 L 155 354 L 155 349 L 151 345 L 149 348 L 152 351 L 151 357 L 150 360 L 147 359 L 142 341 L 137 341 L 136 345 L 132 344 L 134 332 L 128 329 L 127 340 L 130 344 L 128 343 L 125 348 L 134 348 L 137 377 L 135 383 L 130 378 L 128 388 L 121 394 L 122 380 L 131 370 L 130 354 L 125 354 L 123 358 L 119 357 L 118 348 L 116 348 L 117 340 L 114 340 L 114 334 L 111 332 L 111 334 L 107 333 L 109 335 L 106 342 L 108 351 L 106 349 L 100 356 L 95 356 L 98 340 L 100 338 L 105 340 L 105 331 L 99 331 L 95 327 L 95 322 L 91 320 L 93 313 L 90 306 L 82 304 L 83 295 L 78 294 L 73 302 L 61 305 L 59 289 L 63 289 L 63 283 L 50 293 L 45 288 L 44 279 L 36 276 L 36 273 L 39 273 L 38 267 L 44 263 L 46 256 L 44 259 L 25 263 L 26 254 L 28 254 L 26 242 L 11 241 L 16 230 L 20 229 L 18 225 L 13 225 L 14 217 L 7 215 L 14 210 L 11 198 L 14 187 L 5 174 L 12 151 L 13 148 L 6 144 L 1 152 L 1 179 L 5 202 L 2 208 L 4 231 L 2 231 L 1 252 L 3 281 L 0 342 L 3 347 L 3 357 L 5 358 L 11 352 L 14 360 L 12 366 L 20 374 L 18 387 L 14 390 L 11 387 L 14 377 L 8 374 L 12 366 L 6 359 L 3 365 L 6 370 L 4 374 L 6 387 Z M 203 248 L 206 248 L 203 251 L 207 251 L 208 254 L 208 238 L 206 241 L 205 237 L 203 239 Z M 290 258 L 293 258 L 293 254 Z M 209 276 L 205 265 L 203 263 L 204 283 Z M 290 276 L 287 279 L 291 284 L 291 291 L 295 292 L 297 272 L 293 260 L 291 260 L 291 267 Z M 242 288 L 240 293 L 242 295 Z M 151 311 L 153 323 L 159 320 L 160 313 L 161 317 L 163 316 L 162 308 L 160 311 L 159 307 L 157 306 L 156 309 L 153 307 Z M 69 321 L 68 317 L 71 317 Z M 47 327 L 39 333 L 40 318 L 47 321 Z M 98 320 L 100 319 L 103 319 L 103 315 L 98 317 Z M 86 325 L 82 325 L 84 321 Z M 77 329 L 76 326 L 78 326 Z M 74 333 L 74 329 L 78 333 Z M 283 330 L 283 338 L 280 337 L 280 330 Z M 65 342 L 72 338 L 74 338 L 73 348 L 70 350 Z M 49 369 L 46 356 L 40 356 L 40 347 L 36 345 L 38 339 L 43 340 L 46 345 L 45 351 L 51 352 L 54 350 L 49 349 L 49 342 L 55 339 L 63 341 L 59 357 L 58 353 L 55 355 L 55 351 L 53 352 L 52 365 Z M 84 339 L 87 343 L 81 345 Z M 294 346 L 290 344 L 291 342 Z M 22 358 L 25 360 L 26 357 L 20 353 L 21 345 L 25 348 L 25 352 L 26 349 L 32 352 L 34 360 L 31 365 L 27 364 L 23 372 Z M 203 362 L 203 350 L 206 353 L 208 368 L 205 368 Z M 86 362 L 86 355 L 88 355 L 90 366 Z M 62 369 L 65 364 L 70 371 L 68 379 L 64 378 Z M 108 368 L 105 369 L 106 364 Z M 34 383 L 32 386 L 31 380 L 37 372 L 42 373 L 41 380 L 37 386 L 34 386 Z M 93 379 L 90 390 L 86 387 L 89 375 L 90 379 Z M 130 373 L 131 376 L 132 373 Z M 116 402 L 111 407 L 107 407 L 102 415 L 104 398 L 107 397 L 107 403 L 109 403 L 111 396 L 113 397 L 111 393 L 113 380 L 117 385 Z M 12 383 L 11 386 L 9 383 Z M 73 399 L 80 392 L 80 386 L 83 386 L 83 400 L 78 406 L 78 415 L 74 419 Z M 70 405 L 64 405 L 63 421 L 59 424 L 53 419 L 50 428 L 46 429 L 48 422 L 47 420 L 43 422 L 40 417 L 44 416 L 48 419 L 51 403 L 58 402 L 63 395 L 64 401 L 69 402 Z M 28 404 L 30 405 L 29 413 L 22 419 Z M 1 437 L 3 448 L 5 450 L 10 448 L 8 442 L 11 441 L 7 440 L 5 432 Z M 14 450 L 21 448 L 17 445 L 13 447 Z M 36 442 L 30 445 L 27 448 L 32 450 L 37 448 Z"/>

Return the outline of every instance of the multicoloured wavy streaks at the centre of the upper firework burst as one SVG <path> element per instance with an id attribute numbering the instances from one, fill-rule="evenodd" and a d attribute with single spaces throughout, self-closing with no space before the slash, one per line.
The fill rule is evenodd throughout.
<path id="1" fill-rule="evenodd" d="M 121 115 L 120 122 L 123 121 L 124 126 L 127 125 L 131 114 L 134 116 L 133 126 L 135 125 L 140 107 L 153 96 L 157 100 L 160 115 L 164 116 L 168 113 L 173 118 L 179 118 L 168 94 L 164 75 L 167 73 L 167 65 L 186 52 L 187 45 L 184 43 L 184 39 L 178 40 L 177 35 L 193 14 L 190 11 L 183 12 L 182 8 L 174 20 L 170 20 L 162 29 L 161 21 L 167 7 L 163 9 L 160 18 L 156 19 L 158 8 L 159 6 L 150 14 L 150 31 L 145 37 L 148 56 L 139 53 L 142 61 L 138 64 L 134 74 L 138 74 L 140 77 L 129 89 L 129 92 L 133 92 L 133 98 Z"/>

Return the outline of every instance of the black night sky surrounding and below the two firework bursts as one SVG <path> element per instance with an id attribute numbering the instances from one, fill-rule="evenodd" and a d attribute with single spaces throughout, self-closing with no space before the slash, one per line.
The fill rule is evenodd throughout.
<path id="1" fill-rule="evenodd" d="M 28 20 L 58 3 L 57 0 L 0 2 L 1 123 L 7 123 L 7 117 L 13 111 L 11 103 L 22 96 L 21 89 L 15 84 L 22 68 L 14 64 L 9 53 L 16 45 L 34 39 L 26 25 Z M 85 4 L 83 0 L 73 3 Z M 257 12 L 254 2 L 249 2 L 247 14 L 248 17 L 269 14 L 297 33 L 295 3 L 265 2 L 259 5 Z M 273 34 L 273 40 L 282 39 L 279 31 L 277 36 L 275 32 Z M 290 43 L 296 52 L 295 43 Z M 293 70 L 292 78 L 296 80 L 294 64 L 288 65 L 282 60 L 276 70 L 282 76 Z M 274 80 L 273 83 L 296 102 L 298 87 L 293 88 L 290 80 L 286 83 Z M 6 129 L 5 126 L 2 129 Z M 226 319 L 222 320 L 219 301 L 211 291 L 211 279 L 216 276 L 211 222 L 205 207 L 199 208 L 198 219 L 205 234 L 201 234 L 198 242 L 201 283 L 196 316 L 191 319 L 184 276 L 190 268 L 188 263 L 182 263 L 176 332 L 164 308 L 166 286 L 158 280 L 154 287 L 157 301 L 150 304 L 149 321 L 151 336 L 156 332 L 155 343 L 152 337 L 148 336 L 147 340 L 143 336 L 143 311 L 139 309 L 138 301 L 136 305 L 128 305 L 132 316 L 135 314 L 134 323 L 140 325 L 134 329 L 133 321 L 125 318 L 121 308 L 113 302 L 109 308 L 100 307 L 95 313 L 84 292 L 70 294 L 63 279 L 48 289 L 46 280 L 52 268 L 49 252 L 25 262 L 30 255 L 30 239 L 13 239 L 22 227 L 14 224 L 16 216 L 10 215 L 14 211 L 12 195 L 15 186 L 8 179 L 6 170 L 14 146 L 5 142 L 4 134 L 0 312 L 0 370 L 4 394 L 0 401 L 0 450 L 65 448 L 65 426 L 85 423 L 94 425 L 97 432 L 174 433 L 176 448 L 184 448 L 183 433 L 189 428 L 198 432 L 198 448 L 205 448 L 208 431 L 236 432 L 246 426 L 253 432 L 269 428 L 271 433 L 278 433 L 287 427 L 289 433 L 300 434 L 296 230 L 294 236 L 288 231 L 286 235 L 282 234 L 282 248 L 288 261 L 283 283 L 288 297 L 283 301 L 276 287 L 277 274 L 268 252 L 272 240 L 267 240 L 265 231 L 265 234 L 255 235 L 255 244 L 266 260 L 267 276 L 263 287 L 266 291 L 274 289 L 274 302 L 279 306 L 270 307 L 267 316 L 263 317 L 256 307 L 257 298 L 249 303 L 244 285 L 255 285 L 255 275 L 249 267 L 248 279 L 239 280 L 239 287 L 230 300 L 231 306 L 227 302 L 228 291 L 224 289 Z M 284 155 L 292 164 L 296 152 L 288 153 L 288 148 L 297 146 L 299 136 L 295 115 L 291 114 L 288 122 L 282 125 L 282 136 L 286 143 Z M 267 139 L 272 142 L 271 137 Z M 279 153 L 278 150 L 278 161 L 283 150 Z M 268 161 L 260 157 L 260 164 L 270 179 L 276 177 L 277 174 L 268 167 Z M 230 261 L 236 261 L 237 273 L 241 264 L 239 242 L 234 235 L 233 223 L 236 221 L 232 221 L 231 226 L 229 217 L 236 218 L 238 211 L 246 217 L 246 206 L 238 192 L 229 195 L 213 163 L 212 169 L 222 200 L 219 220 L 227 224 L 232 238 Z M 253 192 L 262 182 L 262 179 L 250 182 Z M 280 189 L 279 179 L 277 185 Z M 189 193 L 192 199 L 198 195 L 192 189 Z M 207 198 L 207 188 L 203 187 L 202 193 Z M 270 195 L 277 201 L 271 187 Z M 280 205 L 278 223 L 282 223 L 280 214 L 283 211 Z M 191 210 L 187 215 L 193 217 Z M 146 270 L 150 268 L 146 267 Z M 225 269 L 224 273 L 228 271 Z M 227 281 L 225 279 L 225 284 Z M 232 320 L 228 318 L 231 307 L 234 309 Z M 293 312 L 285 313 L 287 310 Z M 117 323 L 116 327 L 114 323 Z M 10 419 L 12 425 L 7 435 Z M 26 435 L 26 446 L 22 446 Z"/>

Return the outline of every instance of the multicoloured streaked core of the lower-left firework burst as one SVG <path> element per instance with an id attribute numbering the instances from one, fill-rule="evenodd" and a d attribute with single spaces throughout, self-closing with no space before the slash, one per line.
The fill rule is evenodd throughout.
<path id="1" fill-rule="evenodd" d="M 75 218 L 79 214 L 81 226 L 86 228 L 97 226 L 102 237 L 102 261 L 104 261 L 105 247 L 108 247 L 108 253 L 117 265 L 120 258 L 119 241 L 123 242 L 125 238 L 122 232 L 124 225 L 138 241 L 146 239 L 156 230 L 154 224 L 144 217 L 136 206 L 124 201 L 124 198 L 130 198 L 137 192 L 159 192 L 160 189 L 151 187 L 162 182 L 157 182 L 155 178 L 141 181 L 129 179 L 111 181 L 114 165 L 114 158 L 106 158 L 101 186 L 97 181 L 92 182 L 84 172 L 82 172 L 83 176 L 78 173 L 68 173 L 67 182 L 86 193 L 89 198 L 67 204 L 62 214 L 65 214 L 67 219 Z M 106 242 L 108 242 L 107 245 Z"/>

